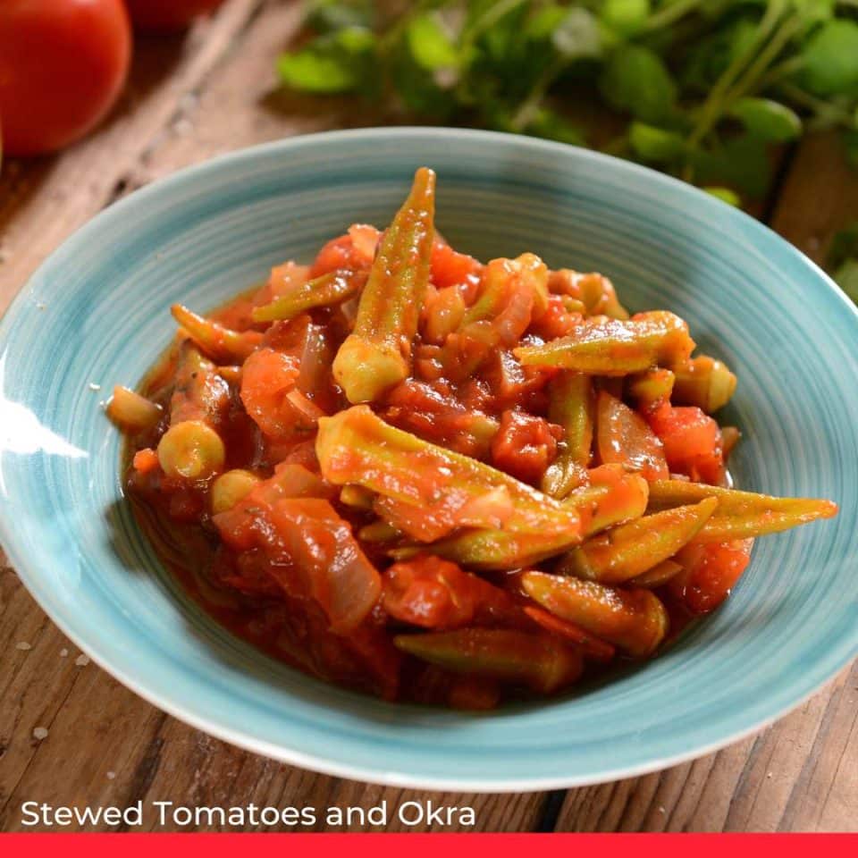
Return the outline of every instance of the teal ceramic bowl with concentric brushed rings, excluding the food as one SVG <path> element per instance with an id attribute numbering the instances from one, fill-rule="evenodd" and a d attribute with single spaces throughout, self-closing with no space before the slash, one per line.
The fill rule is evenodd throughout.
<path id="1" fill-rule="evenodd" d="M 101 400 L 172 336 L 352 222 L 387 223 L 416 166 L 439 227 L 477 257 L 533 250 L 669 308 L 739 376 L 743 487 L 839 517 L 759 541 L 728 602 L 658 659 L 568 697 L 466 714 L 353 694 L 218 627 L 165 573 L 122 499 Z M 634 164 L 449 129 L 284 140 L 176 173 L 100 214 L 0 327 L 0 541 L 71 640 L 194 727 L 282 761 L 450 790 L 571 787 L 711 752 L 777 719 L 858 653 L 858 314 L 750 217 Z M 100 385 L 100 391 L 94 389 Z"/>

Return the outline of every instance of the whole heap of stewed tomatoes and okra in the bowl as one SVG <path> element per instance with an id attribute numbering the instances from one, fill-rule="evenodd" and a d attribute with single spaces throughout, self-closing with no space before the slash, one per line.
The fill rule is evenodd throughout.
<path id="1" fill-rule="evenodd" d="M 484 265 L 434 195 L 420 169 L 385 231 L 172 307 L 109 413 L 141 523 L 217 618 L 333 682 L 490 708 L 652 656 L 754 537 L 837 507 L 729 487 L 736 376 L 681 318 L 531 253 Z"/>

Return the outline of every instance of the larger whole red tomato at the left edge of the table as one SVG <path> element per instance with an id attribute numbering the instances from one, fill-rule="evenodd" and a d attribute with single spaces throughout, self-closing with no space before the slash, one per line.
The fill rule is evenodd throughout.
<path id="1" fill-rule="evenodd" d="M 83 137 L 114 105 L 130 53 L 122 0 L 2 0 L 5 152 L 39 155 Z"/>

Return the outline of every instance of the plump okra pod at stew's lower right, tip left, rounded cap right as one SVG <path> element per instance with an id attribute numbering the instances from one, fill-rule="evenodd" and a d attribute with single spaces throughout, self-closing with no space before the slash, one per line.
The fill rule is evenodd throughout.
<path id="1" fill-rule="evenodd" d="M 545 572 L 525 572 L 521 585 L 552 614 L 635 658 L 652 654 L 668 631 L 668 613 L 649 590 L 618 589 Z"/>

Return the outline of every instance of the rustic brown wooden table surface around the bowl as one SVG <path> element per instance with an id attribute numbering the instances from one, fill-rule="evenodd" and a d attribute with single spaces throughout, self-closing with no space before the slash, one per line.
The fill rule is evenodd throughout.
<path id="1" fill-rule="evenodd" d="M 229 0 L 185 37 L 139 38 L 111 121 L 61 156 L 4 164 L 0 311 L 71 231 L 147 181 L 262 140 L 374 124 L 347 100 L 273 94 L 273 58 L 298 26 L 295 3 Z M 787 156 L 761 210 L 817 260 L 847 215 L 858 217 L 858 179 L 825 137 Z M 566 792 L 433 795 L 291 768 L 168 717 L 80 658 L 2 553 L 0 653 L 0 830 L 20 829 L 21 803 L 32 800 L 369 807 L 431 798 L 474 807 L 475 829 L 489 831 L 858 831 L 858 664 L 760 735 L 657 774 Z"/>

